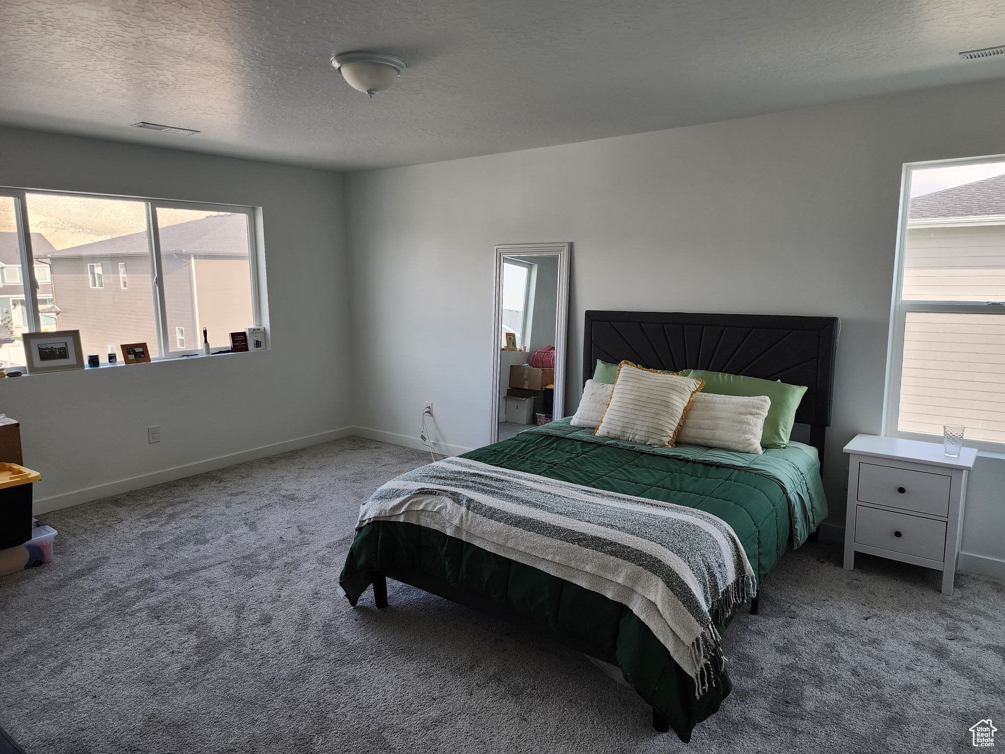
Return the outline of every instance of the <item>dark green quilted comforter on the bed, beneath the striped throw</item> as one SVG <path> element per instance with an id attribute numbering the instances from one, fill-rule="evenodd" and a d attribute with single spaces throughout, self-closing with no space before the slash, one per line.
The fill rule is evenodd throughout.
<path id="1" fill-rule="evenodd" d="M 789 542 L 801 544 L 827 515 L 816 461 L 796 447 L 763 455 L 686 445 L 654 448 L 596 437 L 563 419 L 463 457 L 715 514 L 737 533 L 759 581 Z M 624 605 L 414 524 L 375 522 L 361 529 L 340 584 L 355 605 L 371 572 L 389 568 L 422 571 L 487 596 L 616 656 L 625 680 L 684 742 L 732 689 L 724 672 L 695 699 L 693 681 Z"/>

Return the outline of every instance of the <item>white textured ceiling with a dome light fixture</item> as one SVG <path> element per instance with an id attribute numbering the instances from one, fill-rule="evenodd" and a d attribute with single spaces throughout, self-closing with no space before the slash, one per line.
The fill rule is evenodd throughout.
<path id="1" fill-rule="evenodd" d="M 1001 43 L 985 0 L 2 0 L 0 124 L 361 170 L 1005 77 L 957 56 Z M 351 49 L 409 68 L 368 100 Z"/>

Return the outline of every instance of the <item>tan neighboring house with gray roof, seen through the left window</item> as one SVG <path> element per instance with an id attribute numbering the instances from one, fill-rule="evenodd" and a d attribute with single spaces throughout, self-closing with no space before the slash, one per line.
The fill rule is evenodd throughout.
<path id="1" fill-rule="evenodd" d="M 202 328 L 212 345 L 228 346 L 229 333 L 254 324 L 246 223 L 244 215 L 227 214 L 161 228 L 171 351 L 199 348 Z M 84 354 L 138 342 L 157 353 L 146 231 L 53 249 L 45 261 L 59 329 L 79 330 Z"/>

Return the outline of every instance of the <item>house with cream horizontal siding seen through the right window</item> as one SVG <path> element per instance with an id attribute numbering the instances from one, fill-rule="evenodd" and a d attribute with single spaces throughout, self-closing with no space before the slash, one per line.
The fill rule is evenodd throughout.
<path id="1" fill-rule="evenodd" d="M 1005 302 L 1005 175 L 913 198 L 906 241 L 904 301 Z M 908 315 L 900 430 L 942 434 L 953 416 L 1005 441 L 988 434 L 1005 415 L 1005 307 L 983 310 Z"/>

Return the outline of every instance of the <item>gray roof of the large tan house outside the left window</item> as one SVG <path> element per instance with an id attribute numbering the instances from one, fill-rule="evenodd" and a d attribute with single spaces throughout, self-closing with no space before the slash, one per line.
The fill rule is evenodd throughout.
<path id="1" fill-rule="evenodd" d="M 32 233 L 34 235 L 34 233 Z M 130 233 L 116 238 L 53 249 L 46 256 L 136 256 L 149 253 L 147 232 Z M 248 253 L 247 220 L 243 214 L 221 214 L 179 222 L 161 228 L 161 253 L 224 254 Z M 40 254 L 35 254 L 40 256 Z"/>

